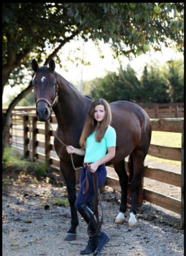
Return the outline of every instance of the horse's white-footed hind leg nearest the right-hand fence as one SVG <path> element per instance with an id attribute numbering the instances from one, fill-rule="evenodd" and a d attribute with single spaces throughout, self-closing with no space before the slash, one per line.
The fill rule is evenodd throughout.
<path id="1" fill-rule="evenodd" d="M 133 175 L 132 175 L 132 181 L 131 181 L 131 210 L 130 210 L 130 218 L 128 220 L 128 225 L 137 226 L 137 219 L 135 218 L 135 215 L 136 215 L 137 202 L 143 186 L 142 172 L 144 169 L 145 156 L 141 150 L 135 149 L 130 157 L 132 158 L 130 161 L 132 161 L 132 165 L 133 165 Z"/>

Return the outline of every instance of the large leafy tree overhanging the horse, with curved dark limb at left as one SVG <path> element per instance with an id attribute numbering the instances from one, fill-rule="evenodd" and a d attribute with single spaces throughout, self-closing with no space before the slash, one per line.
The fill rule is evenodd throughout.
<path id="1" fill-rule="evenodd" d="M 10 75 L 27 71 L 33 56 L 44 65 L 78 37 L 110 43 L 116 56 L 161 49 L 173 42 L 183 51 L 184 3 L 3 3 L 2 91 Z M 172 11 L 174 15 L 171 16 Z M 16 84 L 16 82 L 15 82 Z M 31 92 L 32 83 L 15 98 L 3 119 L 3 138 L 12 109 Z M 4 149 L 5 141 L 3 141 Z"/>

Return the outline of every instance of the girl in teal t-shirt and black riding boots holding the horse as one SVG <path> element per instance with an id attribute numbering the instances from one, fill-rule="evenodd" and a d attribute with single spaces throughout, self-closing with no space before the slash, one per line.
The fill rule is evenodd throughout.
<path id="1" fill-rule="evenodd" d="M 105 163 L 115 157 L 116 152 L 116 131 L 110 126 L 111 110 L 109 103 L 104 99 L 98 99 L 92 102 L 87 119 L 85 120 L 82 135 L 80 137 L 81 148 L 67 146 L 69 154 L 75 153 L 84 156 L 83 168 L 81 170 L 80 190 L 75 202 L 75 208 L 89 224 L 93 212 L 90 209 L 90 201 L 94 197 L 94 188 L 92 183 L 92 173 L 96 172 L 98 177 L 98 187 L 100 188 L 106 181 Z M 88 169 L 89 168 L 89 172 Z M 83 193 L 83 185 L 87 176 L 89 179 L 89 191 Z M 89 254 L 94 252 L 98 255 L 105 244 L 110 240 L 103 231 L 97 232 L 98 223 L 93 217 L 90 225 L 90 236 L 88 245 L 80 254 Z M 96 233 L 97 232 L 97 233 Z M 96 234 L 94 236 L 94 234 Z"/>

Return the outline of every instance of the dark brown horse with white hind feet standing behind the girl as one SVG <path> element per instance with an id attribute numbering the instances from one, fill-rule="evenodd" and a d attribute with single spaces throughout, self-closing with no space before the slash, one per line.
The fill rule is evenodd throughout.
<path id="1" fill-rule="evenodd" d="M 71 209 L 71 226 L 66 234 L 66 240 L 76 239 L 76 227 L 78 225 L 77 212 L 74 207 L 76 200 L 75 170 L 70 156 L 60 140 L 66 145 L 79 146 L 85 117 L 92 100 L 82 95 L 59 73 L 55 72 L 54 60 L 49 67 L 38 67 L 37 61 L 32 60 L 32 69 L 35 72 L 33 79 L 34 98 L 37 105 L 36 114 L 38 120 L 48 121 L 51 118 L 52 109 L 58 121 L 54 147 L 60 158 L 60 169 L 65 178 L 68 191 L 68 199 Z M 110 103 L 112 111 L 111 125 L 116 129 L 117 146 L 116 156 L 109 164 L 113 164 L 119 177 L 121 186 L 121 203 L 116 223 L 124 222 L 124 213 L 127 209 L 127 184 L 131 182 L 131 210 L 128 225 L 137 225 L 136 205 L 138 195 L 142 189 L 142 171 L 144 160 L 151 142 L 151 121 L 147 113 L 137 104 L 128 101 L 116 101 Z M 127 170 L 125 169 L 125 157 L 129 157 Z M 73 155 L 76 167 L 82 165 L 83 157 Z M 128 174 L 129 177 L 128 177 Z"/>

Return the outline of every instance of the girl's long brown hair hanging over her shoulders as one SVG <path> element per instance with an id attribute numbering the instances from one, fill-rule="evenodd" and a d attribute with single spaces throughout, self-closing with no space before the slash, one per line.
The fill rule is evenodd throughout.
<path id="1" fill-rule="evenodd" d="M 94 118 L 95 107 L 98 105 L 103 105 L 105 108 L 105 116 L 101 122 L 97 122 Z M 85 141 L 87 140 L 87 137 L 93 132 L 95 132 L 96 141 L 101 142 L 105 135 L 106 129 L 111 123 L 111 120 L 112 114 L 109 103 L 104 99 L 97 99 L 93 101 L 84 123 L 83 131 L 80 137 L 80 146 L 85 148 Z"/>

